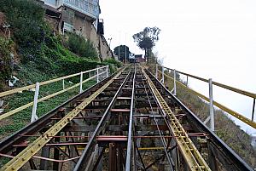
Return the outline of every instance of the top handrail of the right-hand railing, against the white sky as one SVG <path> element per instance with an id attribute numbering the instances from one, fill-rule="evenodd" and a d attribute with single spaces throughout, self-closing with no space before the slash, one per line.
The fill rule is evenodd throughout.
<path id="1" fill-rule="evenodd" d="M 163 66 L 163 67 L 166 68 L 166 69 L 168 69 L 168 70 L 174 71 L 174 70 L 171 69 L 171 68 L 168 68 L 168 67 L 165 67 L 165 66 Z M 188 77 L 193 77 L 193 78 L 195 78 L 195 79 L 201 80 L 201 81 L 206 82 L 206 83 L 208 83 L 208 81 L 209 81 L 209 80 L 207 80 L 206 78 L 197 77 L 197 76 L 194 76 L 194 75 L 191 75 L 191 74 L 182 72 L 182 71 L 177 71 L 177 70 L 176 70 L 176 72 L 177 72 L 177 73 L 180 73 L 180 74 L 183 74 L 183 75 L 185 75 L 185 76 L 188 76 Z M 216 85 L 216 86 L 218 86 L 218 87 L 221 87 L 221 88 L 228 89 L 228 90 L 230 90 L 230 91 L 234 91 L 234 92 L 236 92 L 236 93 L 238 93 L 238 94 L 243 94 L 243 95 L 246 95 L 246 96 L 248 96 L 248 97 L 251 97 L 251 98 L 255 98 L 255 99 L 256 99 L 256 94 L 253 94 L 253 93 L 251 93 L 251 92 L 247 92 L 247 91 L 241 90 L 241 89 L 239 89 L 239 88 L 234 88 L 234 87 L 231 87 L 231 86 L 229 86 L 229 85 L 225 85 L 224 83 L 212 82 L 212 84 L 213 84 L 213 85 Z"/>

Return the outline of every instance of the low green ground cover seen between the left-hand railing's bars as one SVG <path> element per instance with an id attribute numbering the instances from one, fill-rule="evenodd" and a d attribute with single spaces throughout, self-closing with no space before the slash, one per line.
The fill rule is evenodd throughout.
<path id="1" fill-rule="evenodd" d="M 27 70 L 24 71 L 24 73 L 30 74 L 27 72 Z M 40 73 L 33 73 L 33 74 L 34 74 L 33 79 L 36 80 L 37 78 L 41 78 Z M 78 82 L 75 82 L 75 83 L 78 83 Z M 68 83 L 68 80 L 67 80 L 65 82 L 65 87 L 66 88 L 71 87 L 75 83 Z M 91 80 L 88 83 L 84 83 L 83 88 L 84 89 L 89 88 L 95 83 L 96 83 L 95 80 Z M 48 85 L 41 86 L 38 98 L 42 98 L 49 94 L 53 94 L 57 91 L 60 91 L 61 89 L 62 89 L 61 81 L 57 83 L 50 83 Z M 72 90 L 67 91 L 66 93 L 57 95 L 54 98 L 38 103 L 38 110 L 37 110 L 38 117 L 44 116 L 44 114 L 46 114 L 48 111 L 51 111 L 58 105 L 61 105 L 62 103 L 69 100 L 76 94 L 79 94 L 79 87 L 73 88 Z M 9 96 L 8 98 L 4 99 L 6 101 L 9 101 L 9 104 L 5 106 L 5 110 L 12 111 L 17 107 L 20 107 L 21 105 L 26 105 L 27 103 L 33 101 L 33 96 L 34 96 L 34 92 L 32 91 L 24 91 L 22 94 L 14 94 L 12 96 Z M 32 107 L 29 107 L 26 110 L 16 113 L 12 117 L 8 117 L 3 121 L 0 121 L 0 124 L 1 124 L 0 140 L 9 134 L 13 134 L 15 131 L 20 130 L 20 128 L 23 128 L 26 124 L 30 123 L 31 113 L 32 113 Z"/>

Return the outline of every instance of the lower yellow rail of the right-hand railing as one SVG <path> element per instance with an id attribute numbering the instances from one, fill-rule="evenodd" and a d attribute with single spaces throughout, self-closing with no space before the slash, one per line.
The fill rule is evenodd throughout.
<path id="1" fill-rule="evenodd" d="M 169 75 L 167 75 L 165 73 L 166 77 L 169 77 L 170 79 L 173 80 L 173 78 Z M 203 100 L 207 100 L 208 102 L 210 101 L 209 98 L 207 98 L 207 96 L 198 93 L 197 91 L 191 89 L 191 88 L 187 88 L 187 86 L 185 86 L 183 83 L 180 83 L 179 81 L 176 81 L 176 83 L 178 83 L 180 86 L 182 86 L 183 88 L 187 89 L 190 93 L 197 95 L 198 97 L 201 97 L 201 99 Z M 237 119 L 241 120 L 241 122 L 243 123 L 247 123 L 248 125 L 250 125 L 253 128 L 256 128 L 256 123 L 253 122 L 251 119 L 248 119 L 247 117 L 242 116 L 240 113 L 231 110 L 230 108 L 221 105 L 220 103 L 218 103 L 217 101 L 213 100 L 213 105 L 217 106 L 219 109 L 226 111 L 227 113 L 229 113 L 230 115 L 232 115 L 233 117 L 236 117 Z"/>

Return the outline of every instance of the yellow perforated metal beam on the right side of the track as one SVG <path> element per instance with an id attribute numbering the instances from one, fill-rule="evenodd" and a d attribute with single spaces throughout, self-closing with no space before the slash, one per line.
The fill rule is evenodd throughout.
<path id="1" fill-rule="evenodd" d="M 179 123 L 171 108 L 166 104 L 166 101 L 163 99 L 158 89 L 154 86 L 154 83 L 148 77 L 144 69 L 143 72 L 147 78 L 148 85 L 154 93 L 154 96 L 156 97 L 162 111 L 164 111 L 166 115 L 170 118 L 170 127 L 172 128 L 172 134 L 176 137 L 175 140 L 177 142 L 177 146 L 180 149 L 184 160 L 187 162 L 189 169 L 192 171 L 211 170 L 207 162 L 205 162 L 203 157 L 201 157 L 200 152 L 196 149 L 192 140 L 190 140 L 189 135 L 186 133 L 181 123 Z"/>

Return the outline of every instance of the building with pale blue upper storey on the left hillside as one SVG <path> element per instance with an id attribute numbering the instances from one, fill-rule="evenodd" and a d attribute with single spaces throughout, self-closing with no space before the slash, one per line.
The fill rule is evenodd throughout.
<path id="1" fill-rule="evenodd" d="M 45 8 L 45 19 L 62 34 L 75 32 L 94 43 L 99 57 L 113 58 L 104 37 L 104 23 L 99 19 L 99 0 L 38 0 Z"/>

